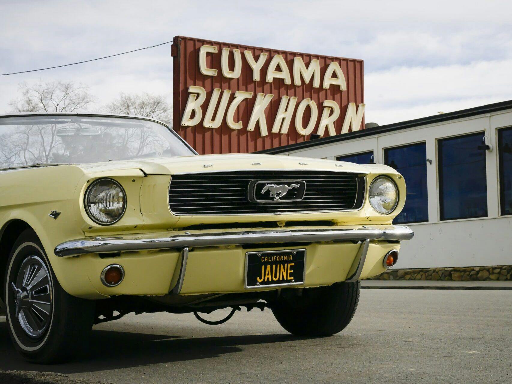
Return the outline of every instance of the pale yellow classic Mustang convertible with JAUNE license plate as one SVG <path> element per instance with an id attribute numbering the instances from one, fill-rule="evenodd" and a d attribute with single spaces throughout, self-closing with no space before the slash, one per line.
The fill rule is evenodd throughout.
<path id="1" fill-rule="evenodd" d="M 126 313 L 270 308 L 295 335 L 350 322 L 395 265 L 406 184 L 380 164 L 198 156 L 148 118 L 0 116 L 2 311 L 17 351 L 67 359 Z"/>

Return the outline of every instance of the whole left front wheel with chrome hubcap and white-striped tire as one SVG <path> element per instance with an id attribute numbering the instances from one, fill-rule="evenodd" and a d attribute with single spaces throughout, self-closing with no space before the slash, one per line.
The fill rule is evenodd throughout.
<path id="1" fill-rule="evenodd" d="M 83 350 L 95 303 L 62 289 L 32 230 L 16 240 L 4 282 L 9 334 L 25 359 L 49 364 L 68 360 Z"/>

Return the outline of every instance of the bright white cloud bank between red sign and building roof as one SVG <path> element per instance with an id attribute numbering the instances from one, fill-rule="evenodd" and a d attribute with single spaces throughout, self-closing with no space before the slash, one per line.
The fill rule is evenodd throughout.
<path id="1" fill-rule="evenodd" d="M 512 99 L 512 59 L 365 76 L 366 121 L 388 124 Z"/>

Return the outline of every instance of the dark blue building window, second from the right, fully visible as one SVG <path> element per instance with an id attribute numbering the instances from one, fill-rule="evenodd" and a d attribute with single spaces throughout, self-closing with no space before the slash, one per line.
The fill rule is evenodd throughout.
<path id="1" fill-rule="evenodd" d="M 484 133 L 438 140 L 441 220 L 487 216 Z"/>

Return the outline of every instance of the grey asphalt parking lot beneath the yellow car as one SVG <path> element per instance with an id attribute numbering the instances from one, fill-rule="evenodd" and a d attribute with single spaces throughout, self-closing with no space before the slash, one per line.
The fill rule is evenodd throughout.
<path id="1" fill-rule="evenodd" d="M 365 289 L 352 323 L 296 338 L 270 310 L 221 326 L 192 314 L 128 315 L 93 330 L 90 356 L 20 359 L 0 317 L 0 369 L 121 383 L 512 383 L 512 291 Z"/>

